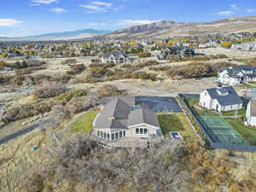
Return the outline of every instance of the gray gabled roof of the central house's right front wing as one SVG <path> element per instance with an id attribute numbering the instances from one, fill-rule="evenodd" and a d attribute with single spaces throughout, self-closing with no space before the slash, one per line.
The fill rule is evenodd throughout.
<path id="1" fill-rule="evenodd" d="M 156 127 L 160 127 L 158 119 L 154 112 L 149 109 L 140 108 L 131 111 L 128 119 L 128 126 L 148 124 Z"/>

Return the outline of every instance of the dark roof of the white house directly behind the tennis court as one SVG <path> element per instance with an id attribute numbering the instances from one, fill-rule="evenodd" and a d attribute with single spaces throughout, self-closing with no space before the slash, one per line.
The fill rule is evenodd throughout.
<path id="1" fill-rule="evenodd" d="M 222 106 L 242 103 L 240 97 L 237 95 L 236 90 L 234 90 L 233 87 L 229 86 L 222 89 L 228 91 L 228 95 L 220 96 L 218 94 L 218 88 L 207 89 L 207 92 L 212 99 L 217 99 L 218 103 Z"/>

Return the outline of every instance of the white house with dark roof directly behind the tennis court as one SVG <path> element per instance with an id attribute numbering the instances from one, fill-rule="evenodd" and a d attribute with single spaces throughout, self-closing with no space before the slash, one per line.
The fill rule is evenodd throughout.
<path id="1" fill-rule="evenodd" d="M 200 106 L 213 109 L 218 112 L 232 111 L 242 108 L 240 97 L 236 94 L 233 87 L 221 87 L 207 89 L 200 94 Z"/>

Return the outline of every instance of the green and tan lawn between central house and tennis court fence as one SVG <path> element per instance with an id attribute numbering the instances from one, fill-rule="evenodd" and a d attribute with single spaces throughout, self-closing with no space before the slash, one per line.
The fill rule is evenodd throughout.
<path id="1" fill-rule="evenodd" d="M 196 138 L 183 113 L 159 113 L 157 117 L 165 136 L 167 136 L 169 131 L 179 131 L 184 139 Z"/>

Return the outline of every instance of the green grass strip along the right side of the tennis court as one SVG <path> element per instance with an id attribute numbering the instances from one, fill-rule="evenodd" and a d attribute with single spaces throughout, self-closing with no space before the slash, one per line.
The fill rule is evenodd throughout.
<path id="1" fill-rule="evenodd" d="M 256 145 L 256 130 L 253 130 L 243 122 L 244 118 L 238 119 L 226 119 L 234 130 L 240 133 L 240 135 L 249 143 L 250 145 Z"/>

